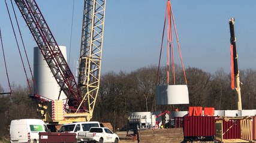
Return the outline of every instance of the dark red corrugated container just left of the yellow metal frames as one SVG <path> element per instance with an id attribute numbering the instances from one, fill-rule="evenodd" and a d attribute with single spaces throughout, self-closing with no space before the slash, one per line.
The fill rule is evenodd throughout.
<path id="1" fill-rule="evenodd" d="M 188 136 L 215 136 L 214 116 L 184 116 L 183 134 Z"/>

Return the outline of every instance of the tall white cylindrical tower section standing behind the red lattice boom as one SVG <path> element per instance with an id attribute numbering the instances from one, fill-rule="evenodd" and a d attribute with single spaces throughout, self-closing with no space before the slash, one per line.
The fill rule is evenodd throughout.
<path id="1" fill-rule="evenodd" d="M 62 55 L 67 61 L 66 46 L 59 46 L 59 49 L 61 49 Z M 61 88 L 56 82 L 55 77 L 53 77 L 52 71 L 50 71 L 46 60 L 44 60 L 38 47 L 34 48 L 34 79 L 38 95 L 49 98 L 50 100 L 58 100 Z M 36 93 L 35 88 L 34 93 Z M 66 98 L 64 92 L 61 92 L 59 100 L 64 100 Z"/>

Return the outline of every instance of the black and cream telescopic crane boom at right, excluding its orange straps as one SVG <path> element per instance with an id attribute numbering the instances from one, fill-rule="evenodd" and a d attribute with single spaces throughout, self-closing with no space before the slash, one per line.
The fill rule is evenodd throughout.
<path id="1" fill-rule="evenodd" d="M 236 52 L 236 36 L 234 34 L 234 18 L 230 18 L 229 20 L 230 24 L 230 43 L 231 46 L 233 46 L 233 65 L 234 69 L 234 75 L 236 77 L 236 92 L 237 92 L 237 108 L 238 110 L 242 110 L 242 99 L 241 99 L 241 91 L 240 91 L 240 77 L 239 77 L 239 70 L 238 70 L 238 56 Z"/>

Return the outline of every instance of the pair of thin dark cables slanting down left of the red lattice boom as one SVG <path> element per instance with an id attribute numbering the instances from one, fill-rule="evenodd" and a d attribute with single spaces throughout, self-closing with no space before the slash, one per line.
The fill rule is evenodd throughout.
<path id="1" fill-rule="evenodd" d="M 13 2 L 11 2 L 11 4 L 13 5 Z M 7 11 L 8 11 L 8 15 L 9 15 L 9 18 L 10 18 L 10 22 L 11 22 L 11 27 L 13 29 L 13 34 L 14 34 L 14 38 L 16 40 L 16 44 L 17 44 L 17 48 L 19 50 L 19 54 L 20 54 L 20 59 L 22 61 L 22 66 L 23 66 L 23 69 L 25 71 L 25 75 L 26 75 L 26 80 L 27 80 L 27 83 L 28 83 L 28 86 L 29 86 L 29 91 L 30 93 L 32 94 L 32 89 L 31 89 L 31 86 L 30 86 L 30 83 L 29 83 L 29 79 L 28 79 L 28 74 L 26 73 L 26 69 L 25 69 L 25 65 L 24 65 L 24 62 L 23 62 L 23 58 L 22 58 L 22 54 L 20 52 L 20 46 L 19 46 L 19 42 L 17 41 L 17 36 L 16 36 L 16 32 L 14 30 L 14 26 L 13 26 L 13 21 L 11 20 L 11 15 L 10 15 L 10 11 L 9 11 L 9 8 L 8 8 L 8 5 L 7 5 L 7 1 L 5 0 L 5 5 L 6 5 L 6 8 L 7 8 Z M 13 9 L 14 10 L 14 9 Z M 15 13 L 15 12 L 14 12 Z M 15 14 L 15 17 L 16 17 L 16 14 Z M 16 21 L 17 21 L 17 18 L 16 18 Z M 19 28 L 19 24 L 18 24 L 18 28 Z M 20 32 L 20 29 L 19 29 L 19 32 Z M 22 40 L 23 42 L 23 40 Z M 24 45 L 23 45 L 24 46 Z M 26 50 L 25 50 L 26 51 Z M 27 57 L 28 58 L 28 57 Z M 30 67 L 30 66 L 29 66 Z"/>

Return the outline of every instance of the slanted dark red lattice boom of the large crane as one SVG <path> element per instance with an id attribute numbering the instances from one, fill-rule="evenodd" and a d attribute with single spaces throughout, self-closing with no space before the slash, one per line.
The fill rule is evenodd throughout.
<path id="1" fill-rule="evenodd" d="M 44 20 L 35 0 L 15 0 L 26 24 L 37 42 L 46 63 L 58 82 L 61 90 L 67 95 L 71 110 L 86 110 L 85 102 L 70 67 L 62 55 L 49 26 Z M 80 108 L 78 108 L 80 105 Z"/>

